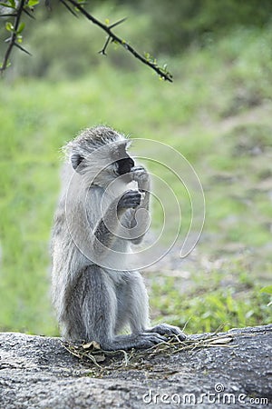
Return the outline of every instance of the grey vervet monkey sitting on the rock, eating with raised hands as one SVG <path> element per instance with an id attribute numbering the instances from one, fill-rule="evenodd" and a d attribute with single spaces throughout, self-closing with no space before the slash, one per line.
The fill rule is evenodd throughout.
<path id="1" fill-rule="evenodd" d="M 131 244 L 139 244 L 148 227 L 151 188 L 128 144 L 97 126 L 64 146 L 63 192 L 53 224 L 52 293 L 62 334 L 96 341 L 104 350 L 149 348 L 173 334 L 185 338 L 176 326 L 150 328 L 143 279 L 127 266 Z M 131 334 L 119 334 L 125 324 Z"/>

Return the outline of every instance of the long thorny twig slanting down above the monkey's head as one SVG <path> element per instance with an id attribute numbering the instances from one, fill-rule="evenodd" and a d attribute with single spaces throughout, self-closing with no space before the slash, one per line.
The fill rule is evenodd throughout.
<path id="1" fill-rule="evenodd" d="M 62 1 L 62 3 L 64 3 L 64 1 Z M 112 42 L 120 44 L 125 50 L 127 50 L 129 53 L 131 53 L 132 55 L 134 55 L 135 58 L 137 58 L 138 60 L 141 61 L 141 63 L 145 64 L 145 65 L 149 65 L 151 67 L 152 70 L 154 70 L 157 74 L 160 75 L 161 78 L 163 78 L 166 81 L 170 81 L 170 83 L 173 81 L 172 80 L 172 75 L 164 68 L 161 68 L 159 65 L 157 65 L 157 63 L 155 61 L 151 61 L 150 58 L 148 57 L 144 57 L 141 54 L 139 54 L 131 45 L 129 45 L 126 41 L 122 40 L 120 37 L 118 37 L 117 35 L 115 35 L 112 32 L 112 27 L 114 25 L 104 25 L 102 24 L 101 21 L 97 20 L 95 17 L 93 17 L 92 15 L 90 15 L 84 8 L 83 5 L 79 4 L 77 1 L 75 0 L 65 0 L 65 3 L 70 3 L 71 5 L 73 5 L 74 7 L 77 8 L 77 10 L 84 15 L 88 20 L 92 21 L 92 23 L 94 25 L 98 25 L 100 28 L 102 28 L 103 31 L 105 31 L 108 35 L 109 38 L 106 41 L 106 44 L 103 46 L 101 54 L 105 55 L 105 49 L 107 47 L 107 45 L 109 45 L 110 39 L 112 39 Z M 119 22 L 118 22 L 119 24 Z"/>

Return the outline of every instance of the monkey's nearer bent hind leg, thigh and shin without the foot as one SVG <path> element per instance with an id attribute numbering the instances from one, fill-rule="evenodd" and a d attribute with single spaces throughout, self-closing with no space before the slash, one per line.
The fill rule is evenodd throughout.
<path id="1" fill-rule="evenodd" d="M 100 267 L 88 265 L 66 288 L 60 319 L 65 338 L 100 344 L 112 338 L 116 297 L 107 278 Z"/>

